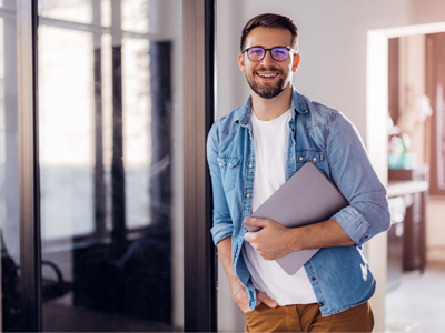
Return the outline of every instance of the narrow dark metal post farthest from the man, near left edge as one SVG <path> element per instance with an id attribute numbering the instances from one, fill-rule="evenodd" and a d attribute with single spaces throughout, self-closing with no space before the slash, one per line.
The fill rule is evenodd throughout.
<path id="1" fill-rule="evenodd" d="M 21 331 L 41 331 L 37 0 L 17 1 Z"/>

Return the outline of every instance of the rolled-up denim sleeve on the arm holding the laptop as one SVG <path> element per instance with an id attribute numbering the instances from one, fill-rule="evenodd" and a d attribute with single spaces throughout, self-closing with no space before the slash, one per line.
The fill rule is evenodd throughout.
<path id="1" fill-rule="evenodd" d="M 349 206 L 332 219 L 362 245 L 390 225 L 386 189 L 370 164 L 356 128 L 340 112 L 332 123 L 326 144 L 332 180 L 349 202 Z"/>

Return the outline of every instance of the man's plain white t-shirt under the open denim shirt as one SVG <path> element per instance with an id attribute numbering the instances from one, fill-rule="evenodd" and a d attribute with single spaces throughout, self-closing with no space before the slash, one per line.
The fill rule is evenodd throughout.
<path id="1" fill-rule="evenodd" d="M 261 121 L 251 112 L 255 145 L 253 211 L 286 182 L 290 118 L 290 110 L 271 121 Z M 255 285 L 278 305 L 317 302 L 305 268 L 288 275 L 275 260 L 263 259 L 248 242 L 244 242 L 243 255 Z"/>

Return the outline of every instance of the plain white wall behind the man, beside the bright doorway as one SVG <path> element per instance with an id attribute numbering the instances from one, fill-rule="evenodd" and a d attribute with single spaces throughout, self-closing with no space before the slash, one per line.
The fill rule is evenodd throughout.
<path id="1" fill-rule="evenodd" d="M 236 62 L 244 24 L 256 14 L 275 12 L 294 18 L 299 28 L 301 64 L 294 84 L 309 98 L 342 110 L 355 123 L 367 147 L 370 143 L 366 141 L 367 121 L 373 117 L 366 114 L 368 30 L 445 21 L 445 1 L 441 0 L 218 0 L 217 6 L 217 117 L 230 112 L 248 95 Z M 386 161 L 374 160 L 373 155 L 372 160 L 376 169 L 386 168 Z M 383 244 L 385 238 L 376 241 Z M 368 248 L 370 262 L 386 262 L 384 251 Z M 386 275 L 385 264 L 372 263 L 372 269 L 377 276 Z M 373 300 L 375 331 L 384 330 L 384 284 L 379 279 L 378 297 Z M 239 315 L 227 307 L 228 297 L 229 291 L 220 287 L 218 305 L 224 311 L 219 311 L 219 329 L 237 331 L 241 327 Z"/>

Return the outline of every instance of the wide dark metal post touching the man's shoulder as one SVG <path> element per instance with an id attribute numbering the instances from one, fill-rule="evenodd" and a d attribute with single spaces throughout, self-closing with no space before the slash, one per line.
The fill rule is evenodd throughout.
<path id="1" fill-rule="evenodd" d="M 215 1 L 184 0 L 185 331 L 215 332 L 216 269 L 206 138 L 215 110 Z"/>

